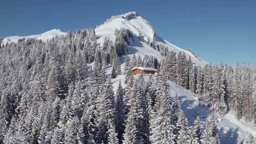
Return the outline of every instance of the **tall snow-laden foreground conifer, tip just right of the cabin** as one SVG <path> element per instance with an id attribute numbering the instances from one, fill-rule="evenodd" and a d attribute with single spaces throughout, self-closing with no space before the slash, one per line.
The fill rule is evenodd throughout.
<path id="1" fill-rule="evenodd" d="M 150 121 L 150 141 L 151 144 L 174 144 L 169 85 L 163 76 L 159 76 L 158 80 L 156 103 Z"/>

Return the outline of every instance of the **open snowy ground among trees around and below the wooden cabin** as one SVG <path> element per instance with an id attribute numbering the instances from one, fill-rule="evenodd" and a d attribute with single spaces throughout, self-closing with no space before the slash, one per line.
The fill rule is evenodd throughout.
<path id="1" fill-rule="evenodd" d="M 107 71 L 110 73 L 111 67 L 109 67 Z M 145 79 L 147 79 L 147 76 L 145 76 Z M 120 75 L 117 78 L 112 79 L 114 90 L 117 90 L 119 80 L 121 80 L 122 85 L 125 86 L 125 76 Z M 199 101 L 193 92 L 184 89 L 172 81 L 169 81 L 169 85 L 171 96 L 174 97 L 175 94 L 178 95 L 181 107 L 188 118 L 190 125 L 193 125 L 196 117 L 200 117 L 203 123 L 210 118 L 212 110 L 208 107 L 203 107 L 202 105 L 199 106 Z M 248 134 L 256 137 L 254 124 L 247 123 L 244 120 L 238 121 L 233 112 L 230 111 L 225 117 L 222 117 L 219 114 L 215 114 L 215 116 L 219 128 L 220 144 L 241 144 Z"/>

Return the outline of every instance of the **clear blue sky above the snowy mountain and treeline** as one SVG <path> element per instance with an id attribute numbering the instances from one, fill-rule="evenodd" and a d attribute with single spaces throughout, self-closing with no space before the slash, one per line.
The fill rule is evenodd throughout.
<path id="1" fill-rule="evenodd" d="M 0 37 L 96 27 L 137 11 L 157 34 L 206 61 L 256 65 L 256 0 L 0 0 Z"/>

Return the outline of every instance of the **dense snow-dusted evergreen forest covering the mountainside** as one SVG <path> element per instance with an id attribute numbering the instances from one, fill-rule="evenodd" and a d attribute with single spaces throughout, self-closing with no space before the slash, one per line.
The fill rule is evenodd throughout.
<path id="1" fill-rule="evenodd" d="M 105 39 L 103 46 L 91 28 L 47 42 L 1 45 L 0 144 L 219 144 L 214 115 L 205 125 L 197 118 L 190 126 L 167 80 L 196 93 L 200 105 L 256 121 L 256 67 L 196 66 L 141 35 L 166 59 L 130 59 L 125 55 L 134 35 L 125 28 L 115 35 L 115 42 Z M 113 67 L 110 74 L 107 66 Z M 159 74 L 134 76 L 137 66 Z M 119 82 L 114 93 L 111 79 L 121 74 L 126 85 Z"/>

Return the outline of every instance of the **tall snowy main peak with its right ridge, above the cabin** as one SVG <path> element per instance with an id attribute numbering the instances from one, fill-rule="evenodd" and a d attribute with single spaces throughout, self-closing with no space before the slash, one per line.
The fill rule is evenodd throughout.
<path id="1" fill-rule="evenodd" d="M 98 37 L 98 42 L 101 43 L 101 45 L 104 42 L 105 37 L 109 37 L 111 40 L 115 40 L 115 29 L 120 29 L 122 27 L 125 27 L 133 32 L 134 35 L 139 36 L 139 34 L 142 34 L 144 38 L 147 40 L 149 38 L 150 41 L 153 41 L 153 38 L 155 37 L 155 41 L 158 44 L 165 45 L 165 47 L 168 48 L 169 51 L 175 51 L 175 52 L 184 52 L 187 57 L 191 56 L 192 62 L 196 63 L 198 65 L 205 65 L 207 62 L 202 60 L 200 57 L 195 56 L 190 51 L 181 49 L 160 36 L 158 36 L 155 33 L 155 30 L 152 26 L 150 26 L 149 22 L 146 21 L 144 18 L 139 16 L 137 12 L 128 12 L 122 15 L 118 16 L 112 16 L 110 19 L 108 19 L 104 24 L 98 26 L 95 29 L 95 33 Z M 130 44 L 128 47 L 129 49 L 137 50 L 136 53 L 138 54 L 151 54 L 152 51 L 154 51 L 152 54 L 159 53 L 158 51 L 155 51 L 151 48 L 151 46 L 147 45 L 144 42 L 136 41 L 133 44 Z M 157 56 L 158 59 L 162 59 L 163 57 L 160 54 Z"/>

